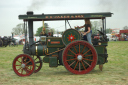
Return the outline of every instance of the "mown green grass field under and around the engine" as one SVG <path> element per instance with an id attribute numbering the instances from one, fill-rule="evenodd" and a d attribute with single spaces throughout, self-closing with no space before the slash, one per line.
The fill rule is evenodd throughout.
<path id="1" fill-rule="evenodd" d="M 13 59 L 22 54 L 23 46 L 0 48 L 0 85 L 128 85 L 128 42 L 108 43 L 108 63 L 103 71 L 98 65 L 85 75 L 74 75 L 63 66 L 50 68 L 43 63 L 38 73 L 17 76 L 12 69 Z"/>

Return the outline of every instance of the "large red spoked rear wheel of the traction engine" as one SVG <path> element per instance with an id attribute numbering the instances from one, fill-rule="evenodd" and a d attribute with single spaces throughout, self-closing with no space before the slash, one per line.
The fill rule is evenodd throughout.
<path id="1" fill-rule="evenodd" d="M 84 47 L 90 49 L 90 52 L 89 52 L 89 50 L 87 50 L 88 51 L 87 53 L 84 52 L 83 51 L 84 47 L 81 49 L 82 45 Z M 78 49 L 76 47 L 78 47 Z M 72 51 L 71 48 L 74 50 Z M 82 53 L 82 51 L 83 51 L 83 53 Z M 72 55 L 69 55 L 69 53 L 72 53 Z M 89 53 L 91 53 L 90 55 L 92 55 L 92 57 L 91 57 L 92 59 L 86 59 L 87 57 L 89 57 Z M 87 57 L 85 57 L 84 55 L 86 55 Z M 78 56 L 82 56 L 82 60 L 81 60 L 81 57 L 79 57 L 79 59 L 78 59 Z M 73 58 L 71 58 L 71 57 L 73 57 Z M 96 50 L 88 42 L 74 41 L 74 42 L 70 43 L 65 48 L 65 50 L 63 52 L 63 64 L 64 64 L 65 68 L 68 71 L 70 71 L 71 73 L 86 74 L 86 73 L 90 72 L 96 66 L 96 63 L 97 63 Z"/>

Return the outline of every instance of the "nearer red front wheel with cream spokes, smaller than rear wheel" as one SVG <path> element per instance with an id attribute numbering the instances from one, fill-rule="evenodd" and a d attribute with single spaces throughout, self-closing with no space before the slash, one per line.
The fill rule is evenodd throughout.
<path id="1" fill-rule="evenodd" d="M 29 61 L 26 61 L 29 59 Z M 31 65 L 29 65 L 31 63 Z M 21 77 L 31 75 L 35 70 L 35 62 L 32 57 L 27 54 L 18 55 L 13 61 L 14 72 Z"/>

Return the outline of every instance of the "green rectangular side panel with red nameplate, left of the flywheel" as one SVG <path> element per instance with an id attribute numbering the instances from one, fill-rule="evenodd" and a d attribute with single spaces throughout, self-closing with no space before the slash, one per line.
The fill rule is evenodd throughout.
<path id="1" fill-rule="evenodd" d="M 63 48 L 64 44 L 62 42 L 62 38 L 58 38 L 58 37 L 47 37 L 46 39 L 46 45 L 47 47 L 55 47 L 55 48 Z"/>

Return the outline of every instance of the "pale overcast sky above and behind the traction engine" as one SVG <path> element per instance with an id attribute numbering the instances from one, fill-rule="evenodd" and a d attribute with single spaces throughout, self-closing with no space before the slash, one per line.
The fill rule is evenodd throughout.
<path id="1" fill-rule="evenodd" d="M 33 11 L 34 14 L 111 12 L 106 27 L 123 29 L 128 26 L 128 0 L 0 0 L 0 36 L 11 36 L 12 29 L 23 23 L 18 16 Z M 49 27 L 65 30 L 64 21 L 46 21 Z M 84 20 L 70 20 L 71 27 L 82 26 Z M 42 22 L 34 22 L 34 34 Z M 68 28 L 68 27 L 67 27 Z"/>

